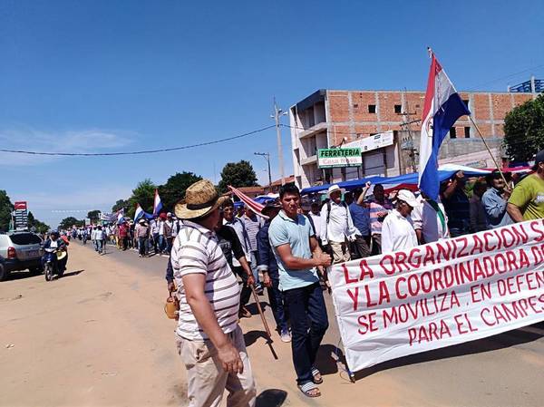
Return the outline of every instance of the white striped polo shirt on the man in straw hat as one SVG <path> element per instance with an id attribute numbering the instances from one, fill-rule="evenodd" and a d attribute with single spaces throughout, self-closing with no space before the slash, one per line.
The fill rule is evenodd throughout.
<path id="1" fill-rule="evenodd" d="M 184 221 L 174 240 L 170 261 L 180 300 L 180 319 L 176 334 L 190 341 L 209 339 L 192 314 L 183 286 L 182 277 L 195 273 L 206 276 L 204 293 L 219 326 L 225 334 L 233 332 L 238 327 L 240 289 L 216 234 L 197 223 Z"/>

